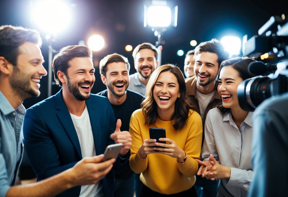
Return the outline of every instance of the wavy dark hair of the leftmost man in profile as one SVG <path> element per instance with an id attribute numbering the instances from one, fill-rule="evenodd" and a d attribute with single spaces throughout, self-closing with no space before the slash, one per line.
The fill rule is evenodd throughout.
<path id="1" fill-rule="evenodd" d="M 12 25 L 0 26 L 0 56 L 16 66 L 17 56 L 20 54 L 19 46 L 25 42 L 42 45 L 42 39 L 37 30 Z"/>

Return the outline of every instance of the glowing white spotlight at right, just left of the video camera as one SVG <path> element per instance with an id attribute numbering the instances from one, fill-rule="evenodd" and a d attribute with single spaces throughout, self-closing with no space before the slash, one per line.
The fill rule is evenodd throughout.
<path id="1" fill-rule="evenodd" d="M 230 55 L 237 55 L 240 52 L 241 40 L 234 36 L 225 36 L 221 39 L 221 43 Z"/>

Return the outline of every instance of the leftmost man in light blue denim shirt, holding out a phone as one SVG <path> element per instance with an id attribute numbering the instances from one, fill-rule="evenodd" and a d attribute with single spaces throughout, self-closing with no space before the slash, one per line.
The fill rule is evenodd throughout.
<path id="1" fill-rule="evenodd" d="M 103 155 L 89 157 L 48 179 L 14 186 L 23 153 L 22 102 L 39 96 L 40 79 L 47 74 L 41 43 L 36 30 L 0 26 L 0 197 L 55 196 L 77 185 L 96 184 L 115 161 L 100 163 Z"/>

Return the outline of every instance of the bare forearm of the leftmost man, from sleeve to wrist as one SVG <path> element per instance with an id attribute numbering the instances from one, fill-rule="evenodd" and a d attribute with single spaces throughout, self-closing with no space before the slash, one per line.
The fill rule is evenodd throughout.
<path id="1" fill-rule="evenodd" d="M 27 184 L 11 187 L 6 197 L 22 196 L 22 197 L 49 197 L 55 196 L 67 189 L 76 186 L 72 178 L 71 170 L 64 171 L 58 175 L 54 175 L 48 179 Z"/>

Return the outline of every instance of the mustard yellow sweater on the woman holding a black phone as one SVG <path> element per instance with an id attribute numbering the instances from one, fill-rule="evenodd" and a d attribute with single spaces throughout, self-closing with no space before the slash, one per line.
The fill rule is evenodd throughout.
<path id="1" fill-rule="evenodd" d="M 131 156 L 129 164 L 140 179 L 151 190 L 162 194 L 175 194 L 190 189 L 196 180 L 195 174 L 200 158 L 202 142 L 202 120 L 200 115 L 190 109 L 186 125 L 175 130 L 171 121 L 156 120 L 155 125 L 145 125 L 142 109 L 133 112 L 129 132 L 132 135 Z M 183 164 L 176 158 L 165 154 L 148 154 L 145 159 L 138 156 L 139 147 L 149 139 L 149 128 L 165 128 L 166 138 L 175 141 L 186 152 L 187 159 Z"/>

